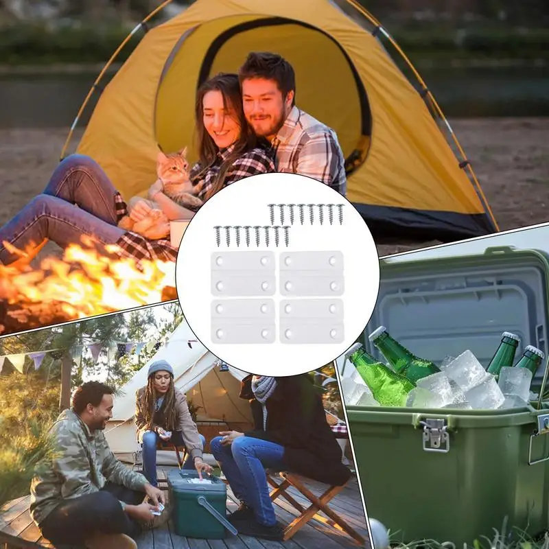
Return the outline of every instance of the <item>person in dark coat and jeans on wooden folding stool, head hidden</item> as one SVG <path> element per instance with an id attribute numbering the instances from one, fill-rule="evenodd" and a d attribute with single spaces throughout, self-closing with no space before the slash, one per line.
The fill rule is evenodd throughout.
<path id="1" fill-rule="evenodd" d="M 308 375 L 242 380 L 240 398 L 250 401 L 254 428 L 220 432 L 211 453 L 240 500 L 229 521 L 240 534 L 281 540 L 265 469 L 288 471 L 342 486 L 351 471 L 326 420 L 320 395 Z"/>

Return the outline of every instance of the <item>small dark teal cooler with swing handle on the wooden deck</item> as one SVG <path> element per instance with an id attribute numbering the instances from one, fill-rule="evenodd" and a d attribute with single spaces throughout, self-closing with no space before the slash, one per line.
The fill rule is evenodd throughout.
<path id="1" fill-rule="evenodd" d="M 196 471 L 174 469 L 168 473 L 167 485 L 172 502 L 172 520 L 176 534 L 201 539 L 222 539 L 225 530 L 237 535 L 226 519 L 226 484 L 215 476 Z"/>

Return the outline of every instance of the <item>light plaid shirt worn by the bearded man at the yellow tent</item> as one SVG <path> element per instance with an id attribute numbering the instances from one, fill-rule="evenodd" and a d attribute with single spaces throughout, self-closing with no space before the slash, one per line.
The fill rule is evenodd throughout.
<path id="1" fill-rule="evenodd" d="M 345 196 L 345 161 L 334 130 L 294 106 L 272 146 L 278 172 L 311 177 Z"/>

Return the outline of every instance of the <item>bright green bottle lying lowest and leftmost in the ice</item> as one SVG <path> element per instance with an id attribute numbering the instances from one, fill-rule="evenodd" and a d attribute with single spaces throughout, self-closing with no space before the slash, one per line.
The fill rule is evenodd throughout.
<path id="1" fill-rule="evenodd" d="M 377 362 L 360 343 L 355 343 L 345 353 L 345 358 L 355 366 L 381 406 L 406 406 L 408 393 L 414 388 L 409 379 Z"/>

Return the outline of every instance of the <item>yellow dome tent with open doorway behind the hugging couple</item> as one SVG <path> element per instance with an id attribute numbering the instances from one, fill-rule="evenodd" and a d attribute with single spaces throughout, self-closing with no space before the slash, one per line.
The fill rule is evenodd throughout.
<path id="1" fill-rule="evenodd" d="M 347 198 L 374 235 L 448 241 L 497 231 L 470 165 L 430 110 L 432 95 L 395 65 L 379 36 L 393 40 L 373 16 L 349 14 L 353 3 L 197 0 L 144 34 L 102 92 L 78 152 L 126 199 L 143 193 L 156 179 L 157 143 L 189 145 L 196 159 L 197 86 L 237 71 L 249 51 L 274 51 L 294 66 L 298 106 L 336 130 Z"/>

